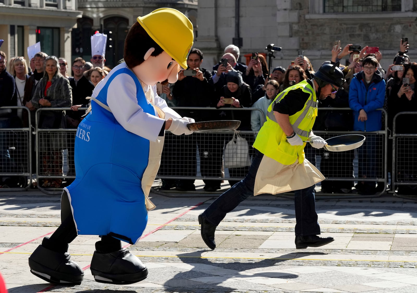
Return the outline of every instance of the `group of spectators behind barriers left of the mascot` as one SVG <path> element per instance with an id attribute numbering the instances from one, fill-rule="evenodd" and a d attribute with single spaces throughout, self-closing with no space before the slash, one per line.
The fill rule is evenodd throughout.
<path id="1" fill-rule="evenodd" d="M 0 127 L 22 128 L 32 127 L 32 170 L 36 172 L 35 147 L 35 112 L 38 109 L 68 108 L 69 111 L 51 110 L 40 111 L 38 127 L 42 129 L 76 129 L 83 119 L 85 111 L 79 111 L 80 107 L 87 107 L 94 87 L 102 80 L 111 69 L 104 66 L 103 59 L 96 58 L 98 66 L 86 62 L 83 58 L 75 58 L 72 62 L 71 73 L 68 75 L 68 63 L 65 58 L 48 56 L 44 52 L 38 52 L 28 62 L 24 57 L 15 56 L 8 60 L 6 54 L 0 51 Z M 96 64 L 96 65 L 97 65 Z M 103 70 L 102 68 L 107 70 Z M 88 74 L 85 71 L 89 69 Z M 10 106 L 25 106 L 29 109 L 8 109 Z M 29 116 L 30 120 L 29 121 Z M 63 150 L 68 148 L 68 135 L 64 132 L 45 132 L 42 142 L 39 143 L 39 158 L 41 173 L 47 175 L 46 179 L 39 180 L 36 184 L 42 187 L 63 187 L 62 179 L 55 176 L 63 175 Z M 23 147 L 23 144 L 20 143 Z M 8 145 L 2 144 L 2 148 Z M 10 156 L 13 156 L 10 154 Z M 73 154 L 68 154 L 68 167 L 74 172 Z M 13 159 L 13 157 L 10 157 Z M 17 159 L 17 158 L 16 158 Z M 5 170 L 7 173 L 7 170 Z M 7 179 L 5 181 L 4 179 Z M 13 186 L 10 177 L 0 178 L 0 185 Z M 12 178 L 13 179 L 13 178 Z M 5 184 L 7 182 L 8 184 Z M 69 182 L 65 182 L 68 184 Z"/>

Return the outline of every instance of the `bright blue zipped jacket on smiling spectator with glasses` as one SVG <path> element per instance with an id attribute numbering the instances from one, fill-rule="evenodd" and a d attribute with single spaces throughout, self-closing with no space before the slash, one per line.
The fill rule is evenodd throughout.
<path id="1" fill-rule="evenodd" d="M 382 112 L 375 111 L 384 106 L 385 81 L 377 70 L 370 83 L 364 81 L 363 71 L 355 73 L 349 86 L 349 107 L 353 110 L 354 131 L 378 131 L 382 127 Z M 364 109 L 368 119 L 358 121 L 359 111 Z"/>

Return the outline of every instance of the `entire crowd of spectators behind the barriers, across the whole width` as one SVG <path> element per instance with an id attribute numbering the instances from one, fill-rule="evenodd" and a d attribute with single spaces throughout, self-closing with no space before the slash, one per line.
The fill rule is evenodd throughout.
<path id="1" fill-rule="evenodd" d="M 380 66 L 382 54 L 379 51 L 367 53 L 368 46 L 362 49 L 354 47 L 352 44 L 343 48 L 335 45 L 329 52 L 330 60 L 323 62 L 334 64 L 342 58 L 349 57 L 346 66 L 341 65 L 346 83 L 343 89 L 319 102 L 319 116 L 314 130 L 361 131 L 365 134 L 366 141 L 363 147 L 358 149 L 359 182 L 356 188 L 361 194 L 373 194 L 385 187 L 377 185 L 374 181 L 360 181 L 360 178 L 378 177 L 375 165 L 377 160 L 380 161 L 377 150 L 382 148 L 382 141 L 377 136 L 366 133 L 383 130 L 385 119 L 390 131 L 414 133 L 412 124 L 407 123 L 407 116 L 400 116 L 396 122 L 396 129 L 393 129 L 393 117 L 402 111 L 417 111 L 414 95 L 417 63 L 410 61 L 407 56 L 407 42 L 400 41 L 399 53 L 394 56 L 393 64 L 386 71 Z M 71 66 L 72 76 L 69 76 L 68 63 L 64 58 L 38 52 L 33 60 L 30 60 L 29 68 L 23 57 L 8 60 L 3 52 L 0 51 L 0 55 L 0 106 L 28 107 L 33 118 L 32 125 L 35 125 L 34 114 L 39 108 L 70 107 L 72 110 L 43 111 L 45 113 L 42 112 L 39 121 L 39 127 L 42 128 L 77 128 L 85 113 L 78 109 L 88 106 L 89 101 L 86 98 L 91 96 L 94 87 L 111 70 L 104 66 L 105 59 L 98 56 L 91 59 L 93 64 L 82 58 L 75 58 Z M 311 79 L 314 73 L 313 66 L 306 56 L 298 56 L 291 64 L 281 64 L 269 72 L 264 54 L 252 53 L 246 64 L 239 62 L 239 55 L 238 47 L 228 45 L 219 63 L 210 70 L 201 66 L 203 52 L 193 48 L 188 55 L 188 68 L 178 73 L 178 81 L 174 84 L 158 84 L 157 92 L 170 106 L 190 108 L 177 111 L 183 116 L 194 118 L 197 122 L 239 120 L 241 124 L 238 130 L 258 131 L 266 121 L 267 109 L 275 97 L 284 89 L 296 87 L 300 81 Z M 195 109 L 196 107 L 211 109 Z M 351 111 L 320 110 L 324 108 L 350 108 Z M 387 111 L 387 116 L 377 110 L 381 108 Z M 258 110 L 247 111 L 248 109 Z M 2 117 L 8 119 L 9 126 L 28 126 L 28 115 L 25 111 L 13 110 L 6 114 L 2 112 Z M 201 175 L 219 178 L 204 180 L 204 189 L 220 189 L 220 178 L 224 174 L 223 148 L 231 136 L 219 135 L 218 139 L 214 140 L 207 137 L 201 134 L 184 136 L 181 137 L 181 144 L 166 140 L 166 144 L 171 145 L 163 152 L 161 174 L 172 175 L 174 168 L 171 168 L 171 165 L 175 166 L 176 176 L 194 177 L 197 172 L 196 155 L 199 155 Z M 244 137 L 249 145 L 255 138 L 254 135 Z M 66 147 L 63 137 L 48 139 L 49 153 L 45 151 L 42 155 L 47 166 L 51 158 L 58 160 L 60 150 Z M 353 151 L 343 154 L 321 152 L 321 170 L 325 176 L 353 178 Z M 314 163 L 315 155 L 307 153 L 307 158 Z M 388 165 L 391 159 L 389 154 Z M 336 169 L 334 166 L 337 166 Z M 73 168 L 73 164 L 70 168 Z M 49 169 L 51 170 L 47 170 L 47 173 L 57 173 L 52 167 Z M 248 167 L 229 169 L 229 183 L 233 185 L 236 182 L 234 177 L 244 177 L 247 169 Z M 59 180 L 44 181 L 44 186 L 60 185 Z M 325 181 L 322 190 L 352 192 L 352 182 Z M 195 190 L 193 179 L 163 180 L 163 189 L 173 187 L 178 190 Z"/>

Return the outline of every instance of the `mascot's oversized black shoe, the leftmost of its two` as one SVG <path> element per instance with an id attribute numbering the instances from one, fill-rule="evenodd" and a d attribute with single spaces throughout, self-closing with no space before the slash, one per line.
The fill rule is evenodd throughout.
<path id="1" fill-rule="evenodd" d="M 67 252 L 68 244 L 60 245 L 61 247 L 54 245 L 55 243 L 49 241 L 49 237 L 43 238 L 42 244 L 29 257 L 30 272 L 49 283 L 80 285 L 84 272 L 70 260 L 71 255 Z"/>

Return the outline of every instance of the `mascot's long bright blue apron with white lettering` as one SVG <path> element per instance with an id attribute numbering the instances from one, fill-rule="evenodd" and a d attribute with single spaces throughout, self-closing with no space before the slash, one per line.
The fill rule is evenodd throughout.
<path id="1" fill-rule="evenodd" d="M 121 73 L 135 81 L 136 98 L 143 111 L 156 115 L 140 81 L 128 68 L 113 73 L 96 99 L 108 106 L 108 85 Z M 95 101 L 91 107 L 77 129 L 76 177 L 66 188 L 75 226 L 80 235 L 111 235 L 134 244 L 148 221 L 141 180 L 148 166 L 150 142 L 124 129 Z"/>

